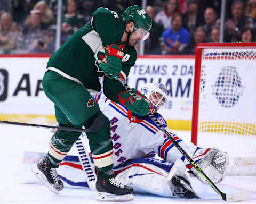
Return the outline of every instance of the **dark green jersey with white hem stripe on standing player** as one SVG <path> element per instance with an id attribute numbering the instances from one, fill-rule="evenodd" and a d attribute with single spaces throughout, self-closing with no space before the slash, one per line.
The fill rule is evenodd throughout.
<path id="1" fill-rule="evenodd" d="M 110 44 L 121 44 L 124 33 L 124 22 L 122 15 L 107 8 L 98 8 L 93 14 L 90 22 L 79 29 L 63 44 L 49 59 L 47 68 L 56 71 L 63 77 L 74 80 L 89 91 L 100 91 L 99 78 L 104 75 L 99 68 L 101 60 L 105 56 L 103 46 Z M 124 49 L 122 71 L 127 76 L 131 66 L 135 64 L 137 53 L 134 46 L 126 46 Z M 106 82 L 105 82 L 106 81 Z M 105 77 L 105 84 L 115 86 L 106 88 L 111 91 L 124 90 L 116 80 Z M 107 94 L 107 93 L 106 93 Z M 110 94 L 110 99 L 116 101 L 116 92 Z"/>

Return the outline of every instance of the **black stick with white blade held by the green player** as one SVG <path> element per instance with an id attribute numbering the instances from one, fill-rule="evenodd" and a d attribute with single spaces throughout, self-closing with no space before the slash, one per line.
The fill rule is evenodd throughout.
<path id="1" fill-rule="evenodd" d="M 124 88 L 129 92 L 129 94 L 135 99 L 136 95 L 134 94 L 134 92 L 132 91 L 132 89 L 125 83 L 125 81 L 120 77 L 117 76 L 116 80 L 118 80 L 119 82 L 121 82 L 121 84 L 124 86 Z M 252 192 L 249 190 L 244 190 L 244 191 L 240 191 L 237 193 L 223 193 L 221 192 L 217 186 L 209 179 L 209 177 L 202 171 L 202 169 L 197 166 L 197 164 L 194 162 L 194 160 L 187 154 L 187 152 L 185 150 L 183 150 L 183 148 L 179 145 L 178 142 L 176 142 L 173 137 L 176 136 L 175 134 L 168 132 L 164 126 L 161 125 L 161 123 L 158 122 L 158 120 L 156 119 L 156 117 L 151 114 L 150 112 L 148 113 L 148 116 L 151 118 L 151 120 L 154 121 L 154 123 L 158 126 L 158 128 L 160 130 L 163 131 L 163 133 L 169 138 L 169 140 L 171 140 L 171 142 L 173 143 L 173 145 L 175 147 L 177 147 L 177 149 L 181 152 L 181 154 L 183 156 L 186 157 L 186 159 L 188 160 L 188 162 L 190 162 L 193 165 L 193 168 L 191 168 L 193 171 L 197 171 L 199 174 L 202 175 L 202 177 L 205 179 L 205 181 L 207 183 L 210 184 L 210 186 L 219 194 L 219 196 L 225 200 L 225 201 L 241 201 L 241 200 L 245 200 L 249 197 L 251 197 Z"/>

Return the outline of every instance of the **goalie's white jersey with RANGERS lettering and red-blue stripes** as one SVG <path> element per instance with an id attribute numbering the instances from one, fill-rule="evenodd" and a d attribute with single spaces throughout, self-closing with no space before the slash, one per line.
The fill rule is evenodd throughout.
<path id="1" fill-rule="evenodd" d="M 93 98 L 110 121 L 114 168 L 128 159 L 144 157 L 154 152 L 167 162 L 175 162 L 176 158 L 184 159 L 149 116 L 140 117 L 133 114 L 122 104 L 106 98 L 103 92 L 93 95 Z M 158 113 L 154 116 L 167 129 L 164 118 Z M 185 142 L 177 136 L 174 139 L 187 150 Z"/>

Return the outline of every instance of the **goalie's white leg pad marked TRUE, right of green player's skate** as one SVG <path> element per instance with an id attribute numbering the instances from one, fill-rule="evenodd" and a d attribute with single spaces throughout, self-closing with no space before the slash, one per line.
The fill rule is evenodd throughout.
<path id="1" fill-rule="evenodd" d="M 125 185 L 132 186 L 134 192 L 172 197 L 172 176 L 181 175 L 185 177 L 186 169 L 185 164 L 180 159 L 175 161 L 169 173 L 153 164 L 141 163 L 117 174 L 116 179 Z"/>

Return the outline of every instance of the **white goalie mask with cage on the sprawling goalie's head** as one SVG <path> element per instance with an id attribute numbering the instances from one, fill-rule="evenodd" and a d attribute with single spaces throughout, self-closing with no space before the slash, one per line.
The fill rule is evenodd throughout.
<path id="1" fill-rule="evenodd" d="M 151 101 L 156 109 L 162 108 L 169 99 L 169 93 L 162 83 L 149 83 L 142 87 L 140 92 Z"/>

